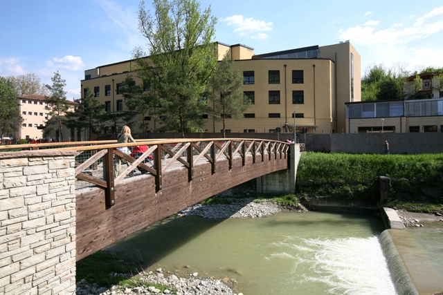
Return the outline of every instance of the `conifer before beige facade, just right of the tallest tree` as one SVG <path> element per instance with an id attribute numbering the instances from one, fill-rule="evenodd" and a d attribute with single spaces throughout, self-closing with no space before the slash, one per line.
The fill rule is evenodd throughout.
<path id="1" fill-rule="evenodd" d="M 213 110 L 210 112 L 216 120 L 223 121 L 223 136 L 225 137 L 226 118 L 242 118 L 243 112 L 251 107 L 251 99 L 242 91 L 243 76 L 233 68 L 234 60 L 229 54 L 223 57 L 210 83 L 213 93 L 210 101 Z"/>

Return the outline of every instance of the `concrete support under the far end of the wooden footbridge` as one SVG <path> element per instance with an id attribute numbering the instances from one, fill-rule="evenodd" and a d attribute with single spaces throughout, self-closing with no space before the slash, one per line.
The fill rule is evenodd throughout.
<path id="1" fill-rule="evenodd" d="M 290 169 L 275 171 L 257 178 L 258 193 L 295 193 L 297 167 L 300 161 L 300 144 L 291 144 Z"/>

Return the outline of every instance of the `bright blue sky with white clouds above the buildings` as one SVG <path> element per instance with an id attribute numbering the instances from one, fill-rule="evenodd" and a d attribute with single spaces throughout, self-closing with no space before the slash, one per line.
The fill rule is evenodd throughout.
<path id="1" fill-rule="evenodd" d="M 146 0 L 152 9 L 152 1 Z M 0 76 L 35 73 L 52 84 L 56 70 L 67 97 L 80 97 L 84 70 L 131 59 L 145 46 L 138 0 L 3 1 Z M 201 1 L 217 17 L 215 41 L 245 44 L 255 54 L 349 39 L 371 64 L 419 70 L 443 67 L 443 1 Z"/>

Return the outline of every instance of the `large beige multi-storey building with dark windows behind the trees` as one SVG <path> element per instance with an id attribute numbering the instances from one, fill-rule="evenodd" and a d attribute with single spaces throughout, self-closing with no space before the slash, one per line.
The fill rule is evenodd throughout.
<path id="1" fill-rule="evenodd" d="M 254 55 L 253 48 L 242 44 L 217 42 L 217 49 L 219 60 L 227 52 L 235 59 L 235 68 L 244 76 L 243 91 L 253 101 L 244 119 L 226 120 L 230 132 L 284 131 L 282 126 L 287 122 L 292 133 L 294 114 L 297 132 L 341 132 L 346 127 L 345 102 L 361 100 L 360 55 L 349 42 L 262 55 Z M 131 59 L 85 70 L 82 95 L 89 87 L 107 111 L 124 111 L 119 89 L 134 63 Z M 136 83 L 141 83 L 136 73 L 132 75 Z M 204 115 L 204 119 L 206 131 L 221 131 L 221 122 L 210 115 Z M 161 126 L 151 117 L 145 120 L 150 131 Z"/>

